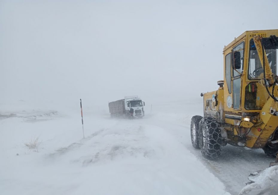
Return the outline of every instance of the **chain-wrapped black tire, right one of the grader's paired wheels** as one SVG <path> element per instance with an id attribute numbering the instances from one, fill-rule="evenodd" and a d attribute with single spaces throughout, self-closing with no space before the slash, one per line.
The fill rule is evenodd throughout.
<path id="1" fill-rule="evenodd" d="M 206 159 L 216 159 L 221 152 L 222 136 L 218 122 L 213 117 L 203 117 L 199 128 L 199 147 Z"/>

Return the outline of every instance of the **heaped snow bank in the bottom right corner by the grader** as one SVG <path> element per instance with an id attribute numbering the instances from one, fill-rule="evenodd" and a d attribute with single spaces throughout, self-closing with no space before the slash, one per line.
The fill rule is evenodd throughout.
<path id="1" fill-rule="evenodd" d="M 269 167 L 257 176 L 250 178 L 254 183 L 246 185 L 239 195 L 277 195 L 278 194 L 278 166 Z"/>

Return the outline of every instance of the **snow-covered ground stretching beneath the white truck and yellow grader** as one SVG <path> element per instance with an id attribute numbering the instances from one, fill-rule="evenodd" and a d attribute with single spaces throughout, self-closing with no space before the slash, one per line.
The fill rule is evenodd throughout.
<path id="1" fill-rule="evenodd" d="M 201 104 L 153 106 L 136 120 L 83 113 L 85 139 L 79 110 L 1 112 L 0 194 L 238 194 L 274 160 L 233 146 L 203 159 L 189 127 Z"/>

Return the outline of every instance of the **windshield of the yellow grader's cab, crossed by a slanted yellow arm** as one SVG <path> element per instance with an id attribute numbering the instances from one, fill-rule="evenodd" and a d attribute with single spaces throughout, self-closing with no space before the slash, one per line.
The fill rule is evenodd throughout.
<path id="1" fill-rule="evenodd" d="M 278 53 L 278 40 L 277 37 L 263 38 L 263 46 L 265 48 L 265 53 L 268 58 L 268 62 L 272 73 L 278 75 L 277 72 L 277 53 Z M 250 40 L 250 52 L 249 52 L 249 67 L 248 67 L 248 79 L 263 79 L 263 68 L 259 55 L 254 44 L 253 39 Z"/>

